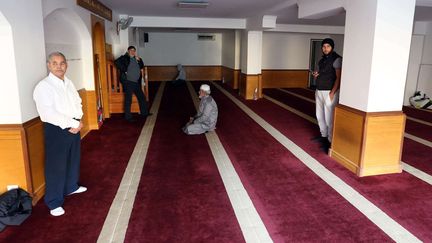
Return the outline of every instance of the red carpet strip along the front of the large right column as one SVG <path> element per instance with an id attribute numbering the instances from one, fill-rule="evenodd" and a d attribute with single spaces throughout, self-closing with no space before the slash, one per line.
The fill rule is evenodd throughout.
<path id="1" fill-rule="evenodd" d="M 304 124 L 297 125 L 296 122 L 293 122 L 298 121 L 296 115 L 264 99 L 258 102 L 245 103 L 414 235 L 421 240 L 432 241 L 432 232 L 430 231 L 432 228 L 432 212 L 430 211 L 432 208 L 432 190 L 429 184 L 408 173 L 358 178 L 323 154 L 317 149 L 318 145 L 310 141 L 318 129 L 312 123 L 303 120 L 301 123 L 309 123 L 310 126 L 308 130 L 304 130 Z M 275 116 L 274 114 L 279 115 Z M 405 141 L 407 140 L 405 139 Z M 418 144 L 417 146 L 423 145 Z M 404 160 L 411 163 L 416 160 L 411 157 L 416 151 L 407 151 L 407 148 L 412 149 L 410 146 L 404 146 Z M 419 148 L 419 150 L 424 149 L 424 147 Z"/>

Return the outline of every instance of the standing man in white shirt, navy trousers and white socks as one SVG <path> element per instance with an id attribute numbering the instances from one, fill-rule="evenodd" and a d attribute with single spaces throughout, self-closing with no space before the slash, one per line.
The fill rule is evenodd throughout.
<path id="1" fill-rule="evenodd" d="M 87 190 L 79 186 L 81 98 L 65 76 L 66 57 L 53 52 L 47 61 L 48 77 L 33 93 L 45 135 L 45 203 L 53 216 L 65 213 L 64 197 Z"/>

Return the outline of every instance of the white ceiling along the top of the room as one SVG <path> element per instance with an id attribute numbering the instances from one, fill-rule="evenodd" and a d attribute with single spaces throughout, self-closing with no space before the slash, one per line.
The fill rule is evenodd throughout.
<path id="1" fill-rule="evenodd" d="M 298 7 L 292 0 L 208 0 L 205 9 L 179 9 L 177 0 L 99 0 L 118 14 L 131 16 L 248 18 L 275 15 L 278 24 L 345 24 L 345 13 L 307 20 L 298 19 Z M 294 4 L 293 4 L 294 3 Z M 432 21 L 432 7 L 416 7 L 416 21 Z"/>

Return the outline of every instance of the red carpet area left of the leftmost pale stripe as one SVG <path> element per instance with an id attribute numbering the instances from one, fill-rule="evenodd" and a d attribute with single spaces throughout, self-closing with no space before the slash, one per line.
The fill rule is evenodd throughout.
<path id="1" fill-rule="evenodd" d="M 157 87 L 150 85 L 152 97 Z M 22 225 L 0 233 L 0 242 L 96 242 L 143 124 L 119 114 L 91 131 L 81 142 L 80 178 L 89 190 L 68 196 L 61 217 L 51 216 L 40 200 Z"/>

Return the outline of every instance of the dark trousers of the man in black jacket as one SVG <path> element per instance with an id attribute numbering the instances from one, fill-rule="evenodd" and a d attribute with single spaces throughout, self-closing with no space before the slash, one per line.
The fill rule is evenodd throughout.
<path id="1" fill-rule="evenodd" d="M 142 116 L 148 115 L 148 109 L 147 109 L 147 101 L 145 99 L 145 95 L 142 92 L 141 85 L 137 82 L 131 82 L 131 81 L 124 81 L 123 82 L 123 92 L 125 94 L 125 101 L 124 101 L 124 111 L 125 111 L 125 118 L 131 119 L 132 114 L 130 112 L 131 105 L 132 105 L 132 94 L 135 94 L 138 100 L 138 104 L 140 107 L 140 114 Z"/>

